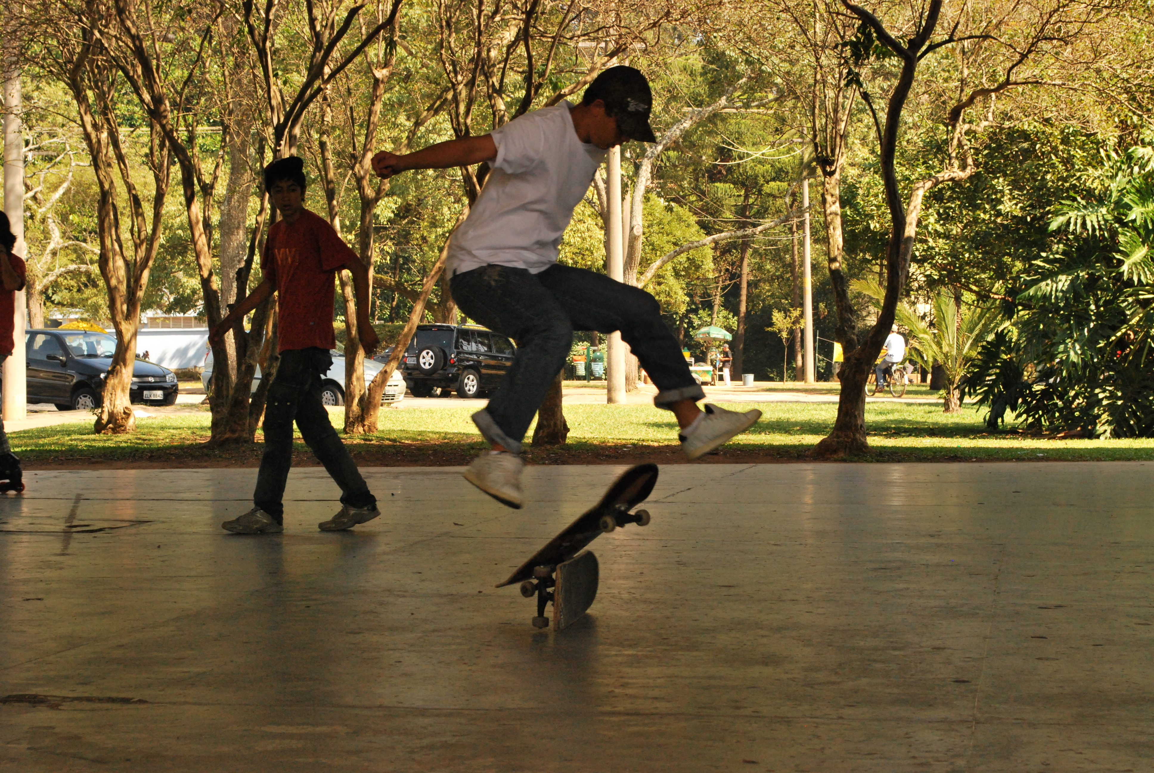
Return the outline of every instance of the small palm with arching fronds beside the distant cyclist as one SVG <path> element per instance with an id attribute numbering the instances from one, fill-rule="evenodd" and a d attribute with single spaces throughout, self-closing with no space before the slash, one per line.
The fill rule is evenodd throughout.
<path id="1" fill-rule="evenodd" d="M 856 280 L 852 287 L 878 304 L 885 295 L 872 280 Z M 909 358 L 926 370 L 942 366 L 945 412 L 960 410 L 961 381 L 977 359 L 982 343 L 1004 325 L 1001 310 L 992 303 L 977 303 L 968 293 L 956 295 L 949 288 L 938 288 L 934 293 L 932 326 L 905 300 L 898 304 L 896 315 L 898 324 L 909 329 Z"/>

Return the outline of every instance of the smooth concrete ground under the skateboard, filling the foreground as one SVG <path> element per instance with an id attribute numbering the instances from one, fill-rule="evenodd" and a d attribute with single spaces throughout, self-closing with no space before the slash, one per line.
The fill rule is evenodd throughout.
<path id="1" fill-rule="evenodd" d="M 495 589 L 617 470 L 44 471 L 0 499 L 0 771 L 1154 770 L 1144 463 L 667 467 L 562 631 Z"/>

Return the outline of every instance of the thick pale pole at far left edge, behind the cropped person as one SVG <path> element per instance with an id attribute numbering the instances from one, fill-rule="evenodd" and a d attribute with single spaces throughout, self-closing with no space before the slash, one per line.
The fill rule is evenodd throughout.
<path id="1" fill-rule="evenodd" d="M 20 66 L 16 39 L 9 37 L 3 61 L 3 211 L 16 235 L 13 252 L 24 252 L 24 137 L 21 129 Z M 16 291 L 12 356 L 3 364 L 3 421 L 28 418 L 28 369 L 24 361 L 24 319 L 28 306 L 23 290 Z"/>

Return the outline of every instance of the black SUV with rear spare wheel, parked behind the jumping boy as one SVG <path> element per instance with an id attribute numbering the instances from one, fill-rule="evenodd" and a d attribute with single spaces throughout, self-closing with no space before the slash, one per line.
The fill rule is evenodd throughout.
<path id="1" fill-rule="evenodd" d="M 456 389 L 480 397 L 495 389 L 512 365 L 512 341 L 472 325 L 418 325 L 400 372 L 415 397 Z"/>

